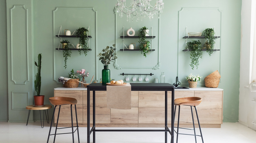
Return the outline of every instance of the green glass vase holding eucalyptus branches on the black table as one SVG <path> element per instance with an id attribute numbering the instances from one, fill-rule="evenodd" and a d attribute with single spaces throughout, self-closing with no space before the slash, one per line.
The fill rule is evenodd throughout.
<path id="1" fill-rule="evenodd" d="M 110 83 L 110 70 L 108 69 L 108 64 L 110 64 L 112 60 L 117 59 L 117 54 L 115 53 L 115 46 L 116 44 L 113 44 L 114 48 L 107 46 L 106 48 L 102 49 L 102 52 L 104 53 L 99 53 L 99 55 L 97 55 L 101 63 L 104 64 L 104 69 L 102 69 L 103 85 L 106 85 L 106 83 Z"/>

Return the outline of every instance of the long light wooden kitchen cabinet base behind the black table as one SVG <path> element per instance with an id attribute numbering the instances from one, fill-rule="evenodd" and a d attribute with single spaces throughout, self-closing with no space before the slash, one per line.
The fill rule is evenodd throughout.
<path id="1" fill-rule="evenodd" d="M 83 89 L 83 90 L 82 90 Z M 198 88 L 195 88 L 198 89 Z M 209 90 L 209 88 L 206 88 Z M 216 89 L 216 88 L 215 88 Z M 214 90 L 214 89 L 213 89 Z M 132 109 L 107 108 L 106 91 L 96 91 L 96 126 L 97 127 L 163 127 L 164 125 L 164 91 L 132 91 Z M 54 96 L 73 97 L 77 99 L 77 117 L 80 127 L 87 126 L 87 90 L 54 90 Z M 90 123 L 92 124 L 93 91 L 90 92 Z M 222 124 L 223 91 L 176 90 L 175 99 L 182 97 L 201 97 L 197 106 L 201 127 L 220 127 Z M 168 91 L 168 125 L 171 124 L 171 91 Z M 197 119 L 192 108 L 195 124 Z M 58 108 L 55 111 L 55 123 Z M 70 105 L 61 106 L 58 126 L 71 123 Z M 193 127 L 190 106 L 181 106 L 180 126 Z M 73 109 L 75 122 L 75 110 Z M 175 123 L 178 121 L 178 106 Z M 176 125 L 177 126 L 177 125 Z"/>

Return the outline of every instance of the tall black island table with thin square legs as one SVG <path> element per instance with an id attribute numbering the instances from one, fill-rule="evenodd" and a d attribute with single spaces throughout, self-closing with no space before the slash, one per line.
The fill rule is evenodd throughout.
<path id="1" fill-rule="evenodd" d="M 167 143 L 167 132 L 171 134 L 171 143 L 174 143 L 174 88 L 168 83 L 130 83 L 132 91 L 165 91 L 165 127 L 163 130 L 96 130 L 95 127 L 95 91 L 106 91 L 106 85 L 92 83 L 87 86 L 87 105 L 90 105 L 90 91 L 93 91 L 93 127 L 90 130 L 90 106 L 87 106 L 87 143 L 90 143 L 90 135 L 93 132 L 93 143 L 95 143 L 95 132 L 165 132 L 165 143 Z M 167 91 L 172 91 L 172 115 L 171 130 L 167 126 Z"/>

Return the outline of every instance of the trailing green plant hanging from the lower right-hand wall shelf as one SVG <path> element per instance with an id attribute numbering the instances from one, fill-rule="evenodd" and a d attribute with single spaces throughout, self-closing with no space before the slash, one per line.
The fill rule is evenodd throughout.
<path id="1" fill-rule="evenodd" d="M 191 49 L 190 58 L 191 58 L 191 68 L 198 68 L 199 66 L 199 58 L 202 58 L 202 43 L 199 40 L 192 40 L 192 42 L 187 42 L 187 48 Z"/>

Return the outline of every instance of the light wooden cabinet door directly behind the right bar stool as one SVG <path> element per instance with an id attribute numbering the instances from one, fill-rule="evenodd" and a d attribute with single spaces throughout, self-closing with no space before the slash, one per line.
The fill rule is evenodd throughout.
<path id="1" fill-rule="evenodd" d="M 168 91 L 168 124 L 171 124 L 171 115 L 172 115 L 172 91 Z M 194 97 L 194 91 L 175 91 L 174 98 L 183 98 L 183 97 Z M 194 108 L 192 108 L 194 114 Z M 175 123 L 178 123 L 178 113 L 179 106 L 176 107 L 175 112 Z M 189 124 L 192 122 L 192 115 L 190 106 L 182 106 L 180 107 L 180 124 Z"/>

